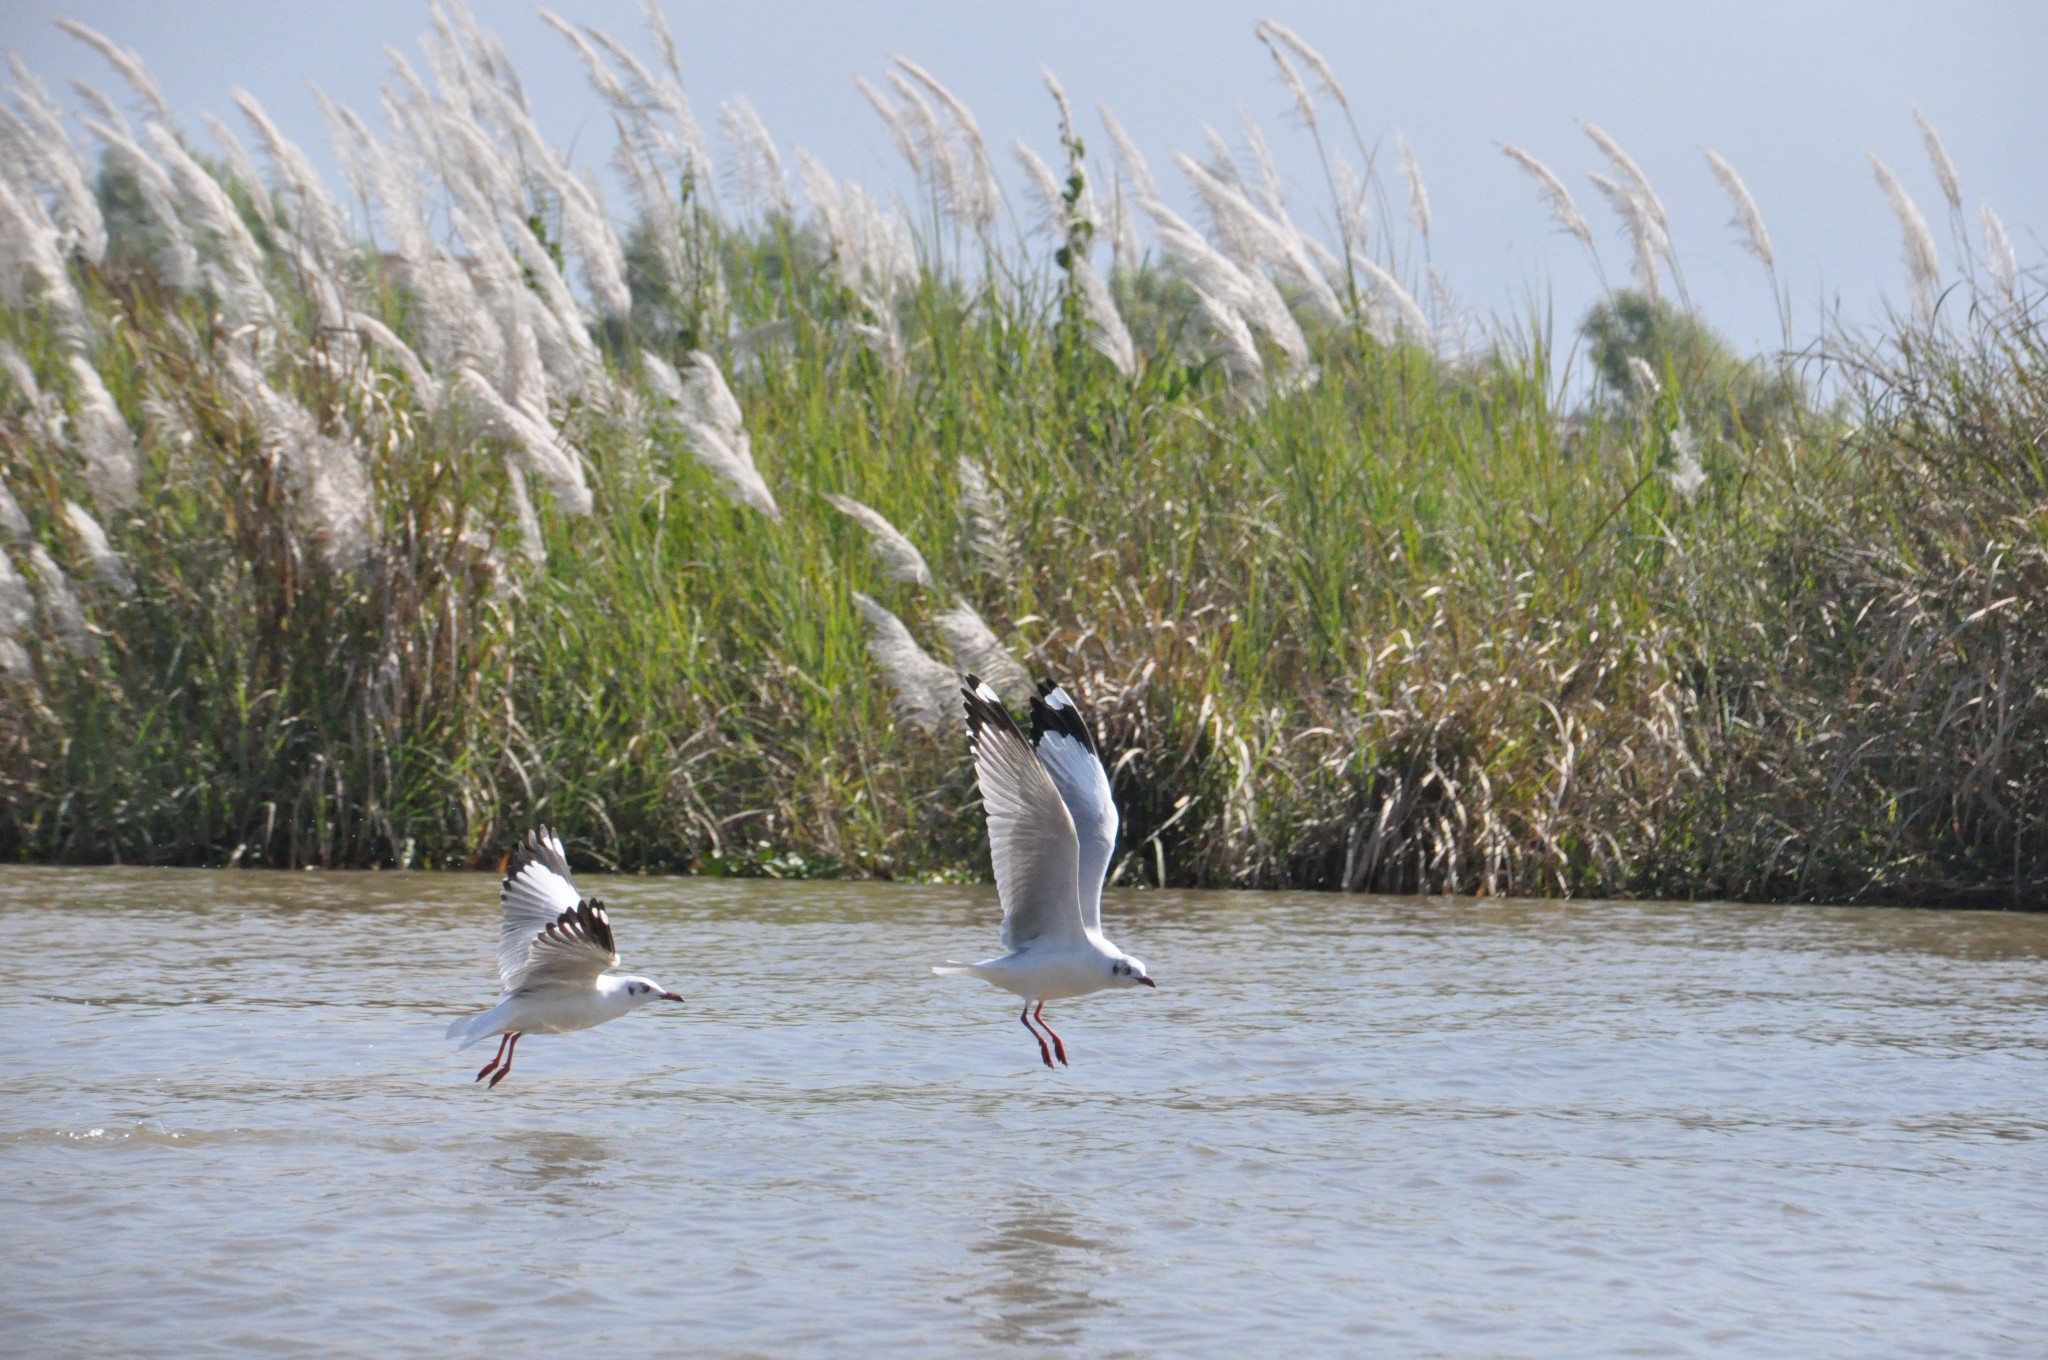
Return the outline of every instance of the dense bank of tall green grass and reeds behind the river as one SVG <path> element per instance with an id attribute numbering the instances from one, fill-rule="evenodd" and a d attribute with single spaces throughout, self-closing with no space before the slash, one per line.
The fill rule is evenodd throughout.
<path id="1" fill-rule="evenodd" d="M 1126 186 L 1065 143 L 1051 240 L 991 244 L 932 170 L 909 268 L 856 258 L 887 233 L 872 203 L 834 225 L 807 172 L 811 213 L 725 211 L 684 156 L 621 250 L 627 305 L 582 303 L 584 354 L 547 299 L 563 258 L 592 277 L 588 223 L 545 172 L 475 227 L 516 258 L 494 274 L 471 236 L 489 166 L 438 168 L 467 254 L 408 242 L 385 199 L 383 246 L 346 256 L 305 184 L 219 166 L 254 301 L 203 195 L 180 213 L 225 264 L 180 285 L 133 172 L 106 176 L 113 242 L 63 262 L 84 324 L 27 268 L 39 301 L 0 320 L 27 520 L 0 582 L 0 625 L 23 600 L 0 852 L 477 864 L 551 821 L 618 868 L 977 873 L 965 746 L 870 653 L 862 592 L 928 645 L 965 600 L 1075 690 L 1122 883 L 2040 901 L 2025 279 L 1817 346 L 1804 383 L 1616 291 L 1571 371 L 1544 326 L 1434 342 L 1341 242 L 1335 311 L 1268 270 L 1303 356 L 1186 250 L 1092 297 Z M 496 340 L 457 334 L 451 289 Z M 719 379 L 692 348 L 776 514 L 705 451 Z M 133 496 L 80 356 L 135 432 Z M 889 580 L 825 494 L 887 516 L 936 584 Z"/>

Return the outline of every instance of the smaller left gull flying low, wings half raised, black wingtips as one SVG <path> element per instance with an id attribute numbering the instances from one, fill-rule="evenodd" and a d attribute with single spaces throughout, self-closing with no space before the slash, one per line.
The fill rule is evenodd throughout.
<path id="1" fill-rule="evenodd" d="M 483 1077 L 498 1086 L 512 1073 L 512 1053 L 526 1034 L 567 1034 L 616 1020 L 647 1002 L 682 997 L 649 977 L 614 977 L 618 967 L 612 922 L 604 903 L 582 897 L 569 879 L 561 840 L 541 827 L 526 834 L 498 889 L 504 924 L 498 928 L 498 977 L 504 1000 L 481 1016 L 449 1026 L 461 1049 L 504 1034 Z"/>

